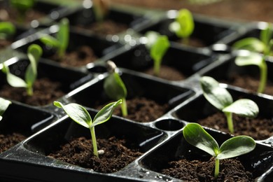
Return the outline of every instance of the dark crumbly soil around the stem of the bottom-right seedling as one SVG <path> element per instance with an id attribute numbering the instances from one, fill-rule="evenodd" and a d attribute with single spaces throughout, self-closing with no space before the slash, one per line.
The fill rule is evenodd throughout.
<path id="1" fill-rule="evenodd" d="M 183 181 L 254 181 L 251 172 L 244 169 L 236 159 L 220 160 L 218 178 L 214 179 L 214 158 L 202 162 L 200 160 L 178 160 L 168 163 L 168 167 L 160 172 Z"/>

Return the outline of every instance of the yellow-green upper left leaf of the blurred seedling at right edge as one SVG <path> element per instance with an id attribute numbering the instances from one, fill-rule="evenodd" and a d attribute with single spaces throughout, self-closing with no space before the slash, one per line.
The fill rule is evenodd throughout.
<path id="1" fill-rule="evenodd" d="M 253 52 L 263 52 L 265 50 L 265 44 L 258 38 L 249 37 L 243 38 L 232 45 L 235 49 L 249 50 Z"/>

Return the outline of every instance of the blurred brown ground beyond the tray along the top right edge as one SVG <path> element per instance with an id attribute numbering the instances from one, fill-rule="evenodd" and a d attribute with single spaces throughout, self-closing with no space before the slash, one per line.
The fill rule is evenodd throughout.
<path id="1" fill-rule="evenodd" d="M 162 10 L 188 8 L 193 13 L 208 15 L 226 20 L 265 21 L 273 22 L 272 0 L 219 0 L 215 3 L 197 4 L 181 0 L 111 0 L 113 3 L 123 3 L 145 8 Z M 208 2 L 208 1 L 207 1 Z"/>

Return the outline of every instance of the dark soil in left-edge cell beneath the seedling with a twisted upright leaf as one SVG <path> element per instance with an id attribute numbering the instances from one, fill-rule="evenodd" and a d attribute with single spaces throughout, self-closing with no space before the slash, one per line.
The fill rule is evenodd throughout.
<path id="1" fill-rule="evenodd" d="M 38 78 L 34 82 L 34 94 L 32 96 L 28 96 L 23 87 L 3 85 L 0 89 L 0 97 L 13 99 L 31 106 L 44 106 L 65 94 L 62 92 L 61 86 L 61 83 L 54 82 L 48 78 Z"/>

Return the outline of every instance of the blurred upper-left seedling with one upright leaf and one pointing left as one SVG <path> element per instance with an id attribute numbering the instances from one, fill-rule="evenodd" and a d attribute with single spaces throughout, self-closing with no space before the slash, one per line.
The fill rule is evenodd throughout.
<path id="1" fill-rule="evenodd" d="M 57 31 L 56 38 L 50 35 L 45 35 L 40 38 L 45 45 L 50 45 L 57 49 L 57 54 L 60 58 L 64 57 L 64 53 L 69 45 L 69 20 L 62 18 L 59 22 L 59 31 Z"/>

